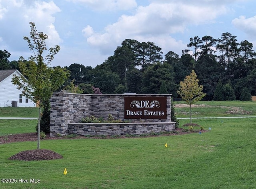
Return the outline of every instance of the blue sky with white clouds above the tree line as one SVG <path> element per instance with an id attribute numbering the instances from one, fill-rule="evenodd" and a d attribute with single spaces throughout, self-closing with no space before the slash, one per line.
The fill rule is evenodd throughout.
<path id="1" fill-rule="evenodd" d="M 60 45 L 51 66 L 95 67 L 124 39 L 154 42 L 164 55 L 181 55 L 190 37 L 226 32 L 256 47 L 255 0 L 0 0 L 0 49 L 10 61 L 31 55 L 29 22 L 49 47 Z"/>

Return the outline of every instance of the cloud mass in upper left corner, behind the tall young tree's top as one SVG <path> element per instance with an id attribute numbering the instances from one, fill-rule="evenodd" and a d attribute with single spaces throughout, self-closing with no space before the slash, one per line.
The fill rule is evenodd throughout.
<path id="1" fill-rule="evenodd" d="M 2 43 L 6 44 L 7 50 L 11 53 L 23 51 L 20 55 L 24 55 L 28 51 L 23 36 L 29 36 L 29 22 L 35 22 L 38 32 L 44 32 L 48 35 L 47 44 L 49 46 L 58 45 L 62 42 L 54 26 L 55 18 L 53 16 L 53 14 L 60 12 L 60 8 L 54 2 L 0 0 L 0 6 L 6 10 L 3 18 L 0 19 L 0 25 L 5 26 L 0 30 L 0 37 L 2 37 Z M 14 54 L 12 53 L 12 55 Z"/>

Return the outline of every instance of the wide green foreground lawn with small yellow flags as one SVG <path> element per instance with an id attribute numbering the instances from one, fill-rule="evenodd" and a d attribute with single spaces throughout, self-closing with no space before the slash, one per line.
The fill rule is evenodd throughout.
<path id="1" fill-rule="evenodd" d="M 250 104 L 243 107 L 234 102 L 230 106 L 255 111 Z M 7 125 L 10 120 L 5 121 Z M 180 120 L 180 125 L 187 121 Z M 50 161 L 8 160 L 20 151 L 36 149 L 36 142 L 0 144 L 0 179 L 17 179 L 16 183 L 0 183 L 0 188 L 256 188 L 256 118 L 194 122 L 212 130 L 149 138 L 41 140 L 42 149 L 64 157 Z M 34 123 L 27 127 L 34 129 Z M 5 133 L 12 130 L 18 129 L 13 126 Z M 29 183 L 19 183 L 18 179 L 28 179 Z M 30 179 L 40 179 L 40 183 L 30 183 Z"/>

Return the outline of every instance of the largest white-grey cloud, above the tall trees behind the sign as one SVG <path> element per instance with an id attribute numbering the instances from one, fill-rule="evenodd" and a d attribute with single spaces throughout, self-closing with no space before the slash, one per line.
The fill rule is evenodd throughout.
<path id="1" fill-rule="evenodd" d="M 166 2 L 166 1 L 164 1 Z M 170 2 L 170 1 L 169 1 Z M 110 53 L 124 39 L 154 38 L 157 41 L 172 41 L 172 33 L 182 33 L 191 24 L 214 22 L 214 19 L 229 10 L 221 4 L 193 5 L 178 2 L 153 2 L 148 6 L 139 6 L 132 16 L 122 15 L 116 23 L 104 28 L 103 32 L 93 33 L 87 38 L 90 45 L 98 47 L 102 53 Z M 170 40 L 171 39 L 171 40 Z"/>

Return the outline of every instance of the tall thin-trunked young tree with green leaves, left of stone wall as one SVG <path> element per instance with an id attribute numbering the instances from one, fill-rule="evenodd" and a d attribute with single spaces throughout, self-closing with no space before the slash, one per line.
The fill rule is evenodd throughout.
<path id="1" fill-rule="evenodd" d="M 60 46 L 56 45 L 49 48 L 48 55 L 44 57 L 44 51 L 47 50 L 46 39 L 48 39 L 48 35 L 43 32 L 37 32 L 34 22 L 30 22 L 30 28 L 30 37 L 24 37 L 24 40 L 28 42 L 28 48 L 33 54 L 28 61 L 20 57 L 19 67 L 22 76 L 15 75 L 12 78 L 12 83 L 22 91 L 23 95 L 28 96 L 39 105 L 37 144 L 37 149 L 39 150 L 42 102 L 50 100 L 52 93 L 61 87 L 69 73 L 61 67 L 49 67 L 54 55 L 60 50 Z"/>

